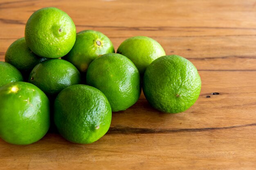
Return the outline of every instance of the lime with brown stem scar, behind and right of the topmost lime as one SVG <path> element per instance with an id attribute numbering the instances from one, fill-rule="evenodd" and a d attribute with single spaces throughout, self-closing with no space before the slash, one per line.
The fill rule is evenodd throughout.
<path id="1" fill-rule="evenodd" d="M 86 72 L 89 64 L 99 55 L 115 52 L 110 39 L 99 31 L 86 30 L 76 34 L 76 42 L 63 59 Z"/>

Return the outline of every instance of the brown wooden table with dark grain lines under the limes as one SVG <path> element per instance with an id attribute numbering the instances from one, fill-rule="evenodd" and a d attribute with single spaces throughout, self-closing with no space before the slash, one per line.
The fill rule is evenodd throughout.
<path id="1" fill-rule="evenodd" d="M 29 16 L 49 6 L 67 12 L 77 31 L 106 34 L 115 49 L 135 35 L 156 39 L 198 68 L 201 95 L 189 110 L 166 114 L 142 94 L 113 113 L 110 130 L 93 144 L 54 133 L 28 146 L 0 139 L 1 169 L 256 168 L 255 0 L 1 0 L 1 61 Z"/>

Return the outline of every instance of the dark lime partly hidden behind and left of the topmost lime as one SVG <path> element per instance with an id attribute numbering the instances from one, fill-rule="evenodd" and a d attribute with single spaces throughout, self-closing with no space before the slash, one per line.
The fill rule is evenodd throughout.
<path id="1" fill-rule="evenodd" d="M 46 58 L 37 56 L 27 46 L 25 38 L 14 41 L 5 53 L 5 62 L 16 67 L 21 73 L 31 72 L 31 70 Z"/>

